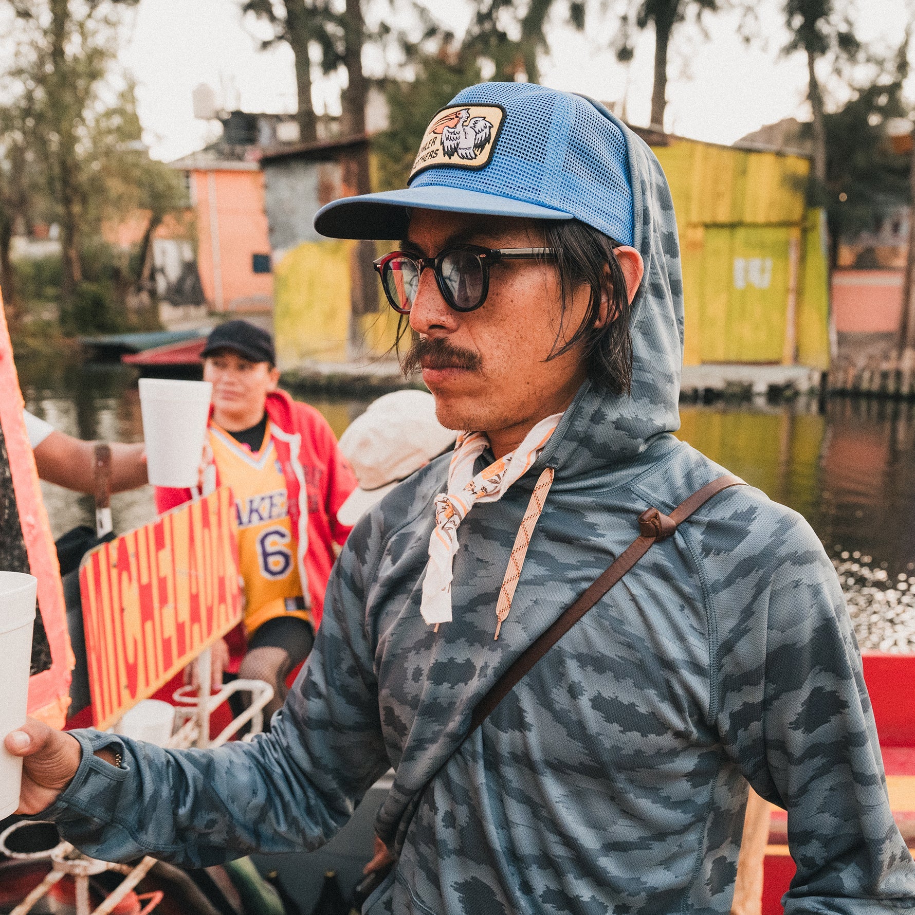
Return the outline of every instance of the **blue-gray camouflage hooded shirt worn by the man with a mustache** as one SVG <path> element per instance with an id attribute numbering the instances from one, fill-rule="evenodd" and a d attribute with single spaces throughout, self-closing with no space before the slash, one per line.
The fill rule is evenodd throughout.
<path id="1" fill-rule="evenodd" d="M 625 128 L 623 128 L 625 130 Z M 579 622 L 452 755 L 479 698 L 636 537 L 724 473 L 671 433 L 683 288 L 670 191 L 626 131 L 645 281 L 631 396 L 586 383 L 532 470 L 460 528 L 455 619 L 420 616 L 447 458 L 350 535 L 314 651 L 269 736 L 166 751 L 92 731 L 45 815 L 92 856 L 190 866 L 328 841 L 393 766 L 393 875 L 365 911 L 727 912 L 749 781 L 789 811 L 786 912 L 915 908 L 842 592 L 802 517 L 716 496 Z M 553 489 L 493 640 L 515 533 Z M 117 745 L 124 768 L 92 756 Z M 426 780 L 436 777 L 421 797 Z"/>

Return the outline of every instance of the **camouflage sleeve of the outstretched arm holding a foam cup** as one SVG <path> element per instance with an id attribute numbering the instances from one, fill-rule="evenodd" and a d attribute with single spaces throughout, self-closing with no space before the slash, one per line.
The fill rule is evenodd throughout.
<path id="1" fill-rule="evenodd" d="M 361 569 L 360 562 L 335 566 L 315 648 L 268 735 L 216 750 L 165 750 L 72 731 L 80 769 L 40 818 L 107 861 L 153 855 L 207 867 L 255 850 L 327 842 L 390 765 L 360 625 Z M 92 755 L 104 746 L 121 750 L 123 769 Z"/>

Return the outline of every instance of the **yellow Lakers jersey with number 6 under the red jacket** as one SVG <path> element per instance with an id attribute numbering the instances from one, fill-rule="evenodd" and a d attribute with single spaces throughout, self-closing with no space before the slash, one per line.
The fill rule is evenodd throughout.
<path id="1" fill-rule="evenodd" d="M 270 436 L 253 454 L 210 423 L 210 447 L 220 485 L 230 486 L 238 520 L 238 554 L 244 579 L 244 628 L 251 635 L 268 619 L 311 621 L 296 565 L 296 537 L 286 505 L 286 484 Z"/>

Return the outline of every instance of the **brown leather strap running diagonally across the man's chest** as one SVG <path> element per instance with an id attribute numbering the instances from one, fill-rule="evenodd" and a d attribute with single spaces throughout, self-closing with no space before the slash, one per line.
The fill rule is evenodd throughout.
<path id="1" fill-rule="evenodd" d="M 502 699 L 521 681 L 534 664 L 544 657 L 554 644 L 559 641 L 568 630 L 581 619 L 588 610 L 597 604 L 597 601 L 616 585 L 622 576 L 629 572 L 641 557 L 651 548 L 651 544 L 665 540 L 677 529 L 677 525 L 684 522 L 701 505 L 704 505 L 713 496 L 731 486 L 746 486 L 739 477 L 728 474 L 725 477 L 713 479 L 706 483 L 701 490 L 696 490 L 692 496 L 681 502 L 669 515 L 662 514 L 654 508 L 646 509 L 639 515 L 639 536 L 613 561 L 611 565 L 587 588 L 584 593 L 565 612 L 544 630 L 522 653 L 511 663 L 508 670 L 479 701 L 470 717 L 470 730 L 472 733 L 479 727 L 490 713 L 493 712 Z"/>

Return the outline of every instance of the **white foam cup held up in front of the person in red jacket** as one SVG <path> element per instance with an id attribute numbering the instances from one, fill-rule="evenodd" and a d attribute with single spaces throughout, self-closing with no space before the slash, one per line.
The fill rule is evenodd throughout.
<path id="1" fill-rule="evenodd" d="M 153 486 L 197 486 L 212 392 L 210 382 L 140 379 L 146 468 Z"/>

